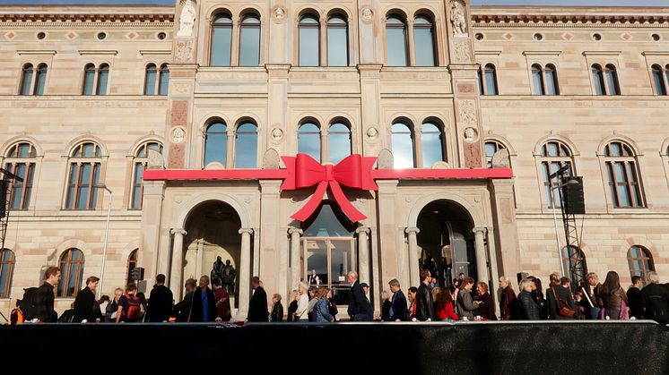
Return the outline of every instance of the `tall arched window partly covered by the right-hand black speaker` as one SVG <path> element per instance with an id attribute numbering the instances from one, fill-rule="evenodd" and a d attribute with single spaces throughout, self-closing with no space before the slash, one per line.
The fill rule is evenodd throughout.
<path id="1" fill-rule="evenodd" d="M 562 166 L 569 166 L 569 170 L 564 174 L 565 177 L 573 174 L 574 163 L 571 158 L 571 151 L 560 141 L 548 141 L 542 146 L 541 160 L 546 205 L 552 208 L 554 202 L 555 207 L 560 207 L 561 192 L 560 189 L 554 189 L 560 183 L 559 177 L 550 179 L 549 176 L 557 172 Z"/>

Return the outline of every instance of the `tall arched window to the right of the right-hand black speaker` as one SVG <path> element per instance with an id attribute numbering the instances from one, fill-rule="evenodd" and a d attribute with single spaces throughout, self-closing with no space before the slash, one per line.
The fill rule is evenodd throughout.
<path id="1" fill-rule="evenodd" d="M 630 146 L 621 141 L 612 141 L 606 145 L 604 164 L 613 206 L 616 208 L 645 207 L 639 181 L 639 165 Z"/>

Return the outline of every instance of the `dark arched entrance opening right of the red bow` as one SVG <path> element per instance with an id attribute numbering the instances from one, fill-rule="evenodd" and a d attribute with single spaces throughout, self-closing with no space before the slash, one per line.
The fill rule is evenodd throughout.
<path id="1" fill-rule="evenodd" d="M 434 200 L 418 215 L 419 263 L 428 268 L 439 286 L 451 286 L 460 273 L 476 278 L 474 223 L 469 213 L 452 200 Z"/>

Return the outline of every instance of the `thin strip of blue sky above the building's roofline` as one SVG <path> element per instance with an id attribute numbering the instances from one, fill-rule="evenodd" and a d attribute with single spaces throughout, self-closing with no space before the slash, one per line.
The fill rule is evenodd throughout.
<path id="1" fill-rule="evenodd" d="M 175 4 L 175 0 L 0 0 L 0 4 Z M 669 6 L 669 0 L 472 0 L 474 5 L 642 5 Z"/>

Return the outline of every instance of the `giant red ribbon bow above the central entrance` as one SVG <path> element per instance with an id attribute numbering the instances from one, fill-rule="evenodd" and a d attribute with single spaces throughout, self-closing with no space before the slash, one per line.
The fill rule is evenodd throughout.
<path id="1" fill-rule="evenodd" d="M 346 198 L 340 183 L 354 189 L 377 191 L 377 183 L 371 177 L 371 168 L 377 158 L 362 158 L 360 155 L 354 154 L 344 158 L 336 166 L 324 166 L 307 154 L 298 154 L 297 157 L 282 157 L 282 160 L 288 173 L 281 185 L 282 190 L 296 190 L 318 184 L 311 199 L 302 209 L 292 215 L 292 218 L 306 221 L 318 209 L 328 186 L 330 186 L 343 213 L 353 223 L 367 218 L 361 211 L 353 207 Z"/>

